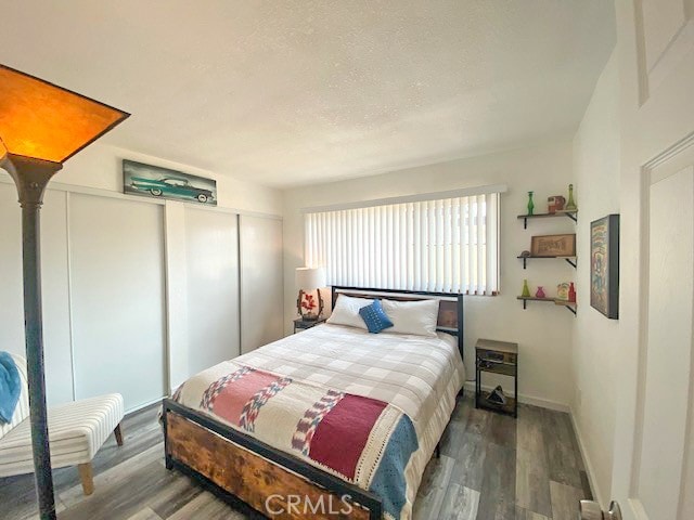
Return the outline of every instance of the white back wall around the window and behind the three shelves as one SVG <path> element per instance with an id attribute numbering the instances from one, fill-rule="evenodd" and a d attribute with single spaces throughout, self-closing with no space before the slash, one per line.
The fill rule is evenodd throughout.
<path id="1" fill-rule="evenodd" d="M 554 291 L 558 282 L 573 281 L 576 272 L 561 260 L 536 260 L 524 271 L 516 257 L 529 249 L 534 234 L 573 233 L 575 226 L 568 218 L 537 219 L 524 231 L 516 216 L 526 212 L 530 190 L 536 192 L 536 212 L 543 210 L 548 196 L 566 196 L 571 168 L 571 140 L 566 138 L 524 150 L 285 192 L 285 332 L 291 333 L 296 312 L 294 270 L 304 264 L 301 208 L 505 183 L 509 192 L 501 200 L 501 296 L 465 299 L 467 379 L 474 378 L 477 338 L 516 341 L 520 348 L 522 399 L 566 408 L 574 393 L 569 365 L 575 317 L 566 309 L 543 302 L 530 302 L 524 311 L 516 296 L 525 277 L 532 287 L 544 285 Z M 580 206 L 580 186 L 577 194 Z"/>

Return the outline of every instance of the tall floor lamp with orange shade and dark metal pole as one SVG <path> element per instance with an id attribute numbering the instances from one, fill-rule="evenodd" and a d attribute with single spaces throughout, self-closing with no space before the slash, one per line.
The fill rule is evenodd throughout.
<path id="1" fill-rule="evenodd" d="M 43 375 L 39 210 L 46 185 L 63 162 L 128 116 L 0 65 L 0 168 L 14 180 L 22 206 L 29 420 L 41 520 L 56 517 Z"/>

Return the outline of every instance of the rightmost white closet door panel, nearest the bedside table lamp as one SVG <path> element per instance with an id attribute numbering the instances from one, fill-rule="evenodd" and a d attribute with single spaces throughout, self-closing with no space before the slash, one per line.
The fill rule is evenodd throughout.
<path id="1" fill-rule="evenodd" d="M 283 336 L 282 221 L 242 214 L 241 351 Z"/>

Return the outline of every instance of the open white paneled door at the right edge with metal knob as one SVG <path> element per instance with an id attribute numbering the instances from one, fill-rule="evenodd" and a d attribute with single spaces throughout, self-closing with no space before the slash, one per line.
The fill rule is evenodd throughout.
<path id="1" fill-rule="evenodd" d="M 694 518 L 694 0 L 617 0 L 620 346 L 612 494 Z"/>

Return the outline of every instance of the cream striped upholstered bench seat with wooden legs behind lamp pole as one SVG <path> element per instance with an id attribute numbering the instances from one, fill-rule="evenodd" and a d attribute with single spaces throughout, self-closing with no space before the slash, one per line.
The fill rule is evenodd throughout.
<path id="1" fill-rule="evenodd" d="M 22 394 L 12 421 L 0 425 L 0 477 L 34 472 L 26 361 L 12 355 L 22 379 Z M 91 460 L 111 432 L 123 445 L 123 396 L 118 393 L 49 407 L 48 429 L 53 468 L 78 466 L 82 490 L 94 490 Z"/>

